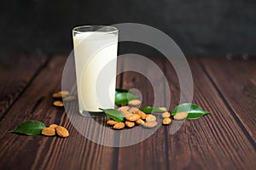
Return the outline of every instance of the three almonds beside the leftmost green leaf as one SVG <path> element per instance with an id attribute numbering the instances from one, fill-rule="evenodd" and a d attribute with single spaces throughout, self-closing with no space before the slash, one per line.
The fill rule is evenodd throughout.
<path id="1" fill-rule="evenodd" d="M 66 138 L 69 136 L 67 128 L 58 126 L 56 124 L 51 124 L 49 127 L 44 127 L 42 130 L 44 136 L 55 136 L 56 134 L 60 137 Z"/>

